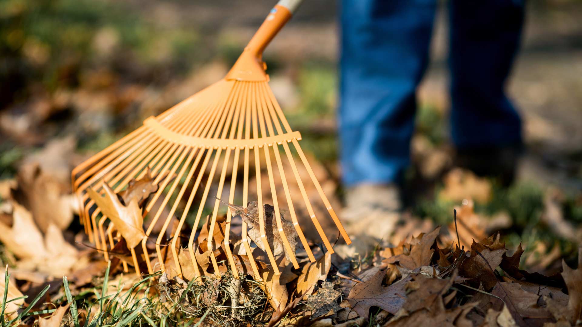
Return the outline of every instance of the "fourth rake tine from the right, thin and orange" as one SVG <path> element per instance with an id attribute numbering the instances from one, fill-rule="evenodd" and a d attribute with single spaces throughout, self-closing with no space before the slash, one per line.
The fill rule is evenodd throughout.
<path id="1" fill-rule="evenodd" d="M 259 89 L 255 86 L 254 90 L 253 90 L 253 94 L 258 95 L 257 96 L 257 107 L 258 107 L 258 119 L 259 119 L 259 126 L 261 128 L 261 136 L 267 136 L 267 133 L 265 131 L 265 116 L 264 116 L 264 110 L 265 110 L 265 99 L 262 97 L 262 94 L 259 93 Z M 271 123 L 268 123 L 268 130 L 269 136 L 274 135 L 274 131 L 273 131 L 273 127 L 271 125 Z M 275 219 L 276 219 L 276 223 L 277 223 L 277 229 L 279 230 L 279 236 L 281 236 L 281 240 L 283 241 L 283 246 L 285 246 L 285 250 L 287 251 L 287 253 L 289 254 L 289 258 L 293 264 L 293 268 L 295 269 L 299 269 L 299 264 L 297 263 L 297 258 L 295 258 L 295 253 L 291 248 L 291 245 L 289 244 L 289 240 L 287 239 L 287 236 L 285 235 L 285 231 L 283 230 L 283 224 L 281 222 L 281 212 L 279 212 L 279 201 L 277 198 L 277 193 L 276 193 L 276 188 L 275 188 L 275 179 L 273 177 L 273 169 L 271 166 L 271 155 L 269 154 L 269 145 L 265 144 L 263 145 L 263 149 L 265 152 L 265 164 L 267 166 L 267 174 L 269 177 L 269 185 L 271 186 L 271 199 L 273 201 L 273 207 L 274 207 L 274 214 L 275 214 Z M 276 143 L 274 143 L 272 145 L 273 150 L 275 150 L 276 147 Z M 269 232 L 272 232 L 272 230 L 269 230 Z M 273 237 L 275 237 L 275 235 L 273 235 Z"/>

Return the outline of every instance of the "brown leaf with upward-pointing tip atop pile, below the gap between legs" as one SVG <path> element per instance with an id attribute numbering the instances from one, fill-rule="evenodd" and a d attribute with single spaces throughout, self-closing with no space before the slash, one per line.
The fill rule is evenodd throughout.
<path id="1" fill-rule="evenodd" d="M 434 254 L 432 244 L 435 243 L 440 230 L 441 227 L 439 226 L 428 234 L 421 233 L 410 242 L 410 250 L 408 250 L 407 244 L 404 244 L 407 251 L 389 257 L 383 262 L 386 264 L 395 264 L 398 262 L 399 265 L 410 270 L 414 270 L 420 266 L 430 265 L 432 255 Z"/>

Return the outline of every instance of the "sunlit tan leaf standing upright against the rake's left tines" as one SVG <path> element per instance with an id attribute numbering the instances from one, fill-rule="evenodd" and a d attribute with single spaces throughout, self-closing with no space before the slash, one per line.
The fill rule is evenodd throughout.
<path id="1" fill-rule="evenodd" d="M 103 183 L 105 196 L 102 197 L 95 190 L 89 187 L 87 193 L 101 212 L 107 216 L 115 228 L 119 230 L 121 236 L 127 241 L 127 248 L 134 248 L 145 236 L 143 229 L 143 218 L 141 216 L 141 209 L 138 205 L 138 199 L 132 198 L 129 204 L 124 205 L 119 201 L 117 194 L 109 187 L 107 183 Z"/>

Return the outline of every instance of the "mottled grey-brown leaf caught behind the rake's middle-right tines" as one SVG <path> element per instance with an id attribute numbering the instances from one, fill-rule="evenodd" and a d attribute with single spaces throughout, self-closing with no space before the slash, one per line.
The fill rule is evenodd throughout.
<path id="1" fill-rule="evenodd" d="M 240 205 L 233 205 L 226 202 L 224 203 L 230 208 L 233 217 L 240 216 L 240 218 L 243 219 L 243 222 L 247 223 L 250 228 L 247 232 L 250 239 L 253 240 L 254 243 L 256 243 L 257 246 L 261 248 L 261 250 L 265 251 L 265 244 L 262 243 L 261 239 L 257 201 L 249 202 L 249 205 L 247 205 L 246 208 L 243 208 Z M 283 218 L 283 210 L 279 210 L 279 215 L 281 216 L 281 228 L 283 230 L 283 234 L 285 234 L 287 240 L 289 241 L 289 246 L 292 253 L 288 253 L 285 244 L 283 243 L 281 234 L 279 233 L 275 208 L 268 204 L 263 205 L 265 237 L 267 237 L 269 248 L 272 248 L 273 250 L 273 255 L 285 253 L 287 260 L 291 260 L 291 255 L 295 255 L 297 250 L 297 238 L 299 235 L 297 235 L 297 230 L 294 228 L 293 223 L 286 221 L 285 218 Z"/>

